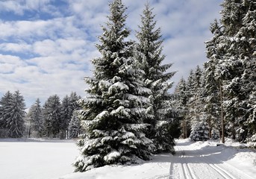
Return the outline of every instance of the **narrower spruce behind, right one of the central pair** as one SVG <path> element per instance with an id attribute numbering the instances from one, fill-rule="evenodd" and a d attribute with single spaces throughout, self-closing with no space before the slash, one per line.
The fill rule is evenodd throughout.
<path id="1" fill-rule="evenodd" d="M 168 92 L 173 83 L 168 81 L 175 72 L 166 72 L 172 63 L 162 65 L 165 58 L 165 55 L 162 54 L 163 40 L 161 40 L 160 28 L 155 29 L 155 25 L 152 9 L 149 4 L 146 4 L 141 16 L 140 31 L 136 35 L 138 43 L 134 57 L 142 64 L 142 69 L 145 72 L 144 82 L 152 90 L 149 98 L 153 104 L 154 118 L 146 121 L 151 124 L 149 138 L 154 141 L 156 152 L 173 151 L 175 142 L 172 131 L 176 128 L 172 128 L 172 125 L 177 125 L 170 103 L 171 95 Z"/>

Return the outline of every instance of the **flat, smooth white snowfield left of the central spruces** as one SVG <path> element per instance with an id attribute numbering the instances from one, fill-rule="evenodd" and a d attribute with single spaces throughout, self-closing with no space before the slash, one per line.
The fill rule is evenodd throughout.
<path id="1" fill-rule="evenodd" d="M 0 179 L 50 179 L 72 173 L 72 140 L 0 139 Z"/>

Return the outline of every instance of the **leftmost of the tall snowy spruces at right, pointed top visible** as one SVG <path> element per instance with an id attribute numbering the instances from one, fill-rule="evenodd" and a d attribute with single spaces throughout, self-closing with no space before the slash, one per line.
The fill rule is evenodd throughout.
<path id="1" fill-rule="evenodd" d="M 209 124 L 209 134 L 210 138 L 213 132 L 213 138 L 216 139 L 221 131 L 221 101 L 220 101 L 220 90 L 221 90 L 221 79 L 222 72 L 219 72 L 219 56 L 222 56 L 222 51 L 219 50 L 218 44 L 222 40 L 222 30 L 219 27 L 219 23 L 215 19 L 212 24 L 210 24 L 210 31 L 213 34 L 213 37 L 205 42 L 206 44 L 206 53 L 207 53 L 207 62 L 204 63 L 205 67 L 205 90 L 207 93 L 205 110 L 209 115 L 208 124 Z"/>

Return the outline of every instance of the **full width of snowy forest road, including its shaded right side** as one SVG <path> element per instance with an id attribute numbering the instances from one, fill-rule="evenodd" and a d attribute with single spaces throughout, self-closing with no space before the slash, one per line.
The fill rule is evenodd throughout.
<path id="1" fill-rule="evenodd" d="M 241 163 L 230 161 L 234 158 L 234 148 L 226 148 L 224 145 L 207 145 L 207 142 L 192 143 L 184 140 L 184 142 L 178 142 L 175 146 L 175 151 L 176 154 L 172 158 L 169 178 L 256 178 L 255 170 L 251 173 L 248 169 L 243 167 L 243 163 L 241 165 Z"/>

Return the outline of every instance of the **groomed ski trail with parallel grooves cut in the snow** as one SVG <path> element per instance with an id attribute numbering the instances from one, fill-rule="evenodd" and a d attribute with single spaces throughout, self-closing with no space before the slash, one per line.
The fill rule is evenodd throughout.
<path id="1" fill-rule="evenodd" d="M 196 150 L 190 143 L 175 146 L 169 179 L 254 179 L 218 158 L 217 154 L 221 151 L 200 154 L 202 151 Z"/>

